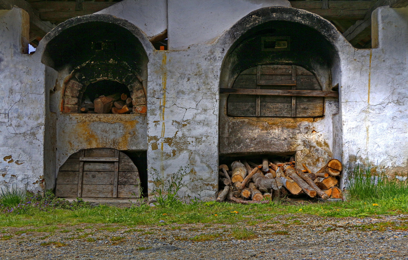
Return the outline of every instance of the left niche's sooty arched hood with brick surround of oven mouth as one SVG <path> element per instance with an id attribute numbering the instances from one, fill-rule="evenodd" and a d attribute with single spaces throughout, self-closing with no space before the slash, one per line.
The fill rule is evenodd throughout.
<path id="1" fill-rule="evenodd" d="M 79 113 L 86 87 L 100 80 L 125 84 L 133 112 L 146 113 L 147 53 L 153 46 L 135 25 L 105 14 L 72 18 L 48 33 L 41 49 L 42 63 L 67 74 L 64 113 Z"/>

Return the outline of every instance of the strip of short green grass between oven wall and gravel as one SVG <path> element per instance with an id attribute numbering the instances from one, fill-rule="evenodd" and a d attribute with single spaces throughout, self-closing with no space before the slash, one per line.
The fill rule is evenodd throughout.
<path id="1" fill-rule="evenodd" d="M 373 204 L 377 204 L 373 206 Z M 302 209 L 302 211 L 299 211 Z M 53 232 L 58 229 L 57 225 L 77 225 L 77 224 L 107 224 L 100 230 L 116 231 L 121 227 L 112 227 L 111 224 L 120 224 L 124 227 L 135 225 L 159 225 L 159 224 L 185 224 L 201 223 L 202 218 L 208 218 L 214 224 L 236 224 L 275 222 L 273 217 L 278 215 L 292 214 L 294 218 L 303 214 L 311 214 L 322 217 L 357 217 L 365 218 L 377 215 L 396 215 L 408 213 L 408 193 L 401 193 L 394 198 L 370 199 L 370 200 L 350 200 L 346 202 L 328 202 L 303 205 L 275 205 L 275 204 L 230 204 L 217 202 L 197 202 L 195 204 L 182 204 L 171 209 L 171 215 L 166 216 L 164 223 L 161 210 L 157 207 L 150 207 L 146 211 L 135 213 L 130 209 L 117 207 L 98 206 L 85 209 L 50 209 L 47 215 L 44 211 L 31 209 L 21 214 L 0 214 L 0 227 L 27 227 L 35 228 L 37 232 Z M 238 211 L 239 213 L 231 213 Z M 217 216 L 214 216 L 217 214 Z M 49 216 L 58 216 L 56 220 L 50 222 Z M 109 216 L 117 216 L 115 220 L 108 219 Z M 266 218 L 256 217 L 266 216 Z M 292 220 L 293 221 L 293 220 Z M 52 224 L 50 224 L 52 223 Z M 276 223 L 276 222 L 275 222 Z M 295 222 L 293 222 L 296 224 Z M 83 229 L 81 229 L 83 230 Z M 65 232 L 64 230 L 61 230 Z M 60 232 L 61 232 L 60 231 Z"/>

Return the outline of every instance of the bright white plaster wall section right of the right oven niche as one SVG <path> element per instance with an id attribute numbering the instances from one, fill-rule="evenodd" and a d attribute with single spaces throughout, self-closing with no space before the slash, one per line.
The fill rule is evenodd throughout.
<path id="1" fill-rule="evenodd" d="M 342 68 L 343 160 L 350 168 L 368 158 L 388 173 L 406 174 L 408 8 L 379 7 L 373 24 L 378 48 L 355 50 Z"/>

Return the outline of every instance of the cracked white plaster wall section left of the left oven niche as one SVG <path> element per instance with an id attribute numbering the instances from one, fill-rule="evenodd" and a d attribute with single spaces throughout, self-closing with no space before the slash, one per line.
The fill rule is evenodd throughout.
<path id="1" fill-rule="evenodd" d="M 46 68 L 27 53 L 29 16 L 0 11 L 0 183 L 32 191 L 44 177 Z"/>

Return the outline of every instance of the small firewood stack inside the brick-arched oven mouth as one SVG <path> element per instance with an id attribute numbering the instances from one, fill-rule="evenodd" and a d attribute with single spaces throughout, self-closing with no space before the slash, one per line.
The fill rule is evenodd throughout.
<path id="1" fill-rule="evenodd" d="M 84 98 L 81 104 L 81 113 L 88 114 L 128 114 L 132 113 L 132 98 L 125 93 L 115 93 L 109 96 L 99 96 L 93 102 Z"/>

